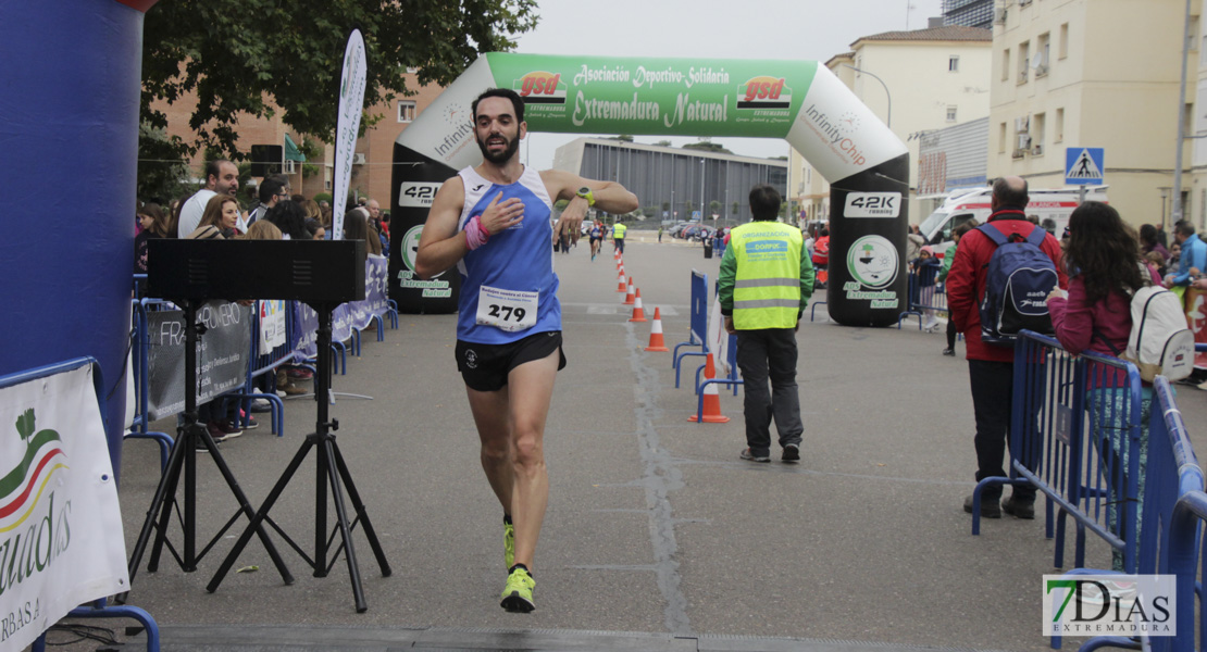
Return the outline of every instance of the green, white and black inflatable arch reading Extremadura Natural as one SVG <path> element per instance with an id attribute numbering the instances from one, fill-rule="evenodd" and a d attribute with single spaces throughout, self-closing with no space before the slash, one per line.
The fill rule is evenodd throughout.
<path id="1" fill-rule="evenodd" d="M 470 105 L 488 88 L 524 98 L 530 131 L 787 140 L 830 182 L 830 316 L 888 325 L 906 307 L 909 151 L 824 65 L 490 53 L 395 143 L 390 294 L 401 310 L 456 310 L 457 274 L 420 281 L 414 249 L 441 183 L 482 160 Z"/>

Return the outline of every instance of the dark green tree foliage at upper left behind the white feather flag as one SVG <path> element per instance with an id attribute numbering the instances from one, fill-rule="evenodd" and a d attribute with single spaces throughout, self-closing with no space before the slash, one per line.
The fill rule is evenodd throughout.
<path id="1" fill-rule="evenodd" d="M 301 134 L 331 141 L 344 46 L 354 28 L 365 35 L 365 104 L 412 94 L 403 75 L 447 84 L 484 52 L 508 51 L 536 27 L 536 0 L 206 0 L 158 2 L 146 13 L 141 121 L 164 129 L 154 111 L 196 93 L 189 118 L 197 142 L 179 154 L 214 147 L 241 159 L 238 119 L 269 117 L 269 104 Z M 381 116 L 366 116 L 361 134 Z M 171 142 L 171 141 L 168 141 Z M 140 152 L 140 157 L 141 157 Z"/>

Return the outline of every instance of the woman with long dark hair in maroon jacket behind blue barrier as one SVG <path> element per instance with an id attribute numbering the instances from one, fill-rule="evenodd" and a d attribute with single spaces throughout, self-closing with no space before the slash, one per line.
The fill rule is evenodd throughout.
<path id="1" fill-rule="evenodd" d="M 1068 295 L 1057 289 L 1048 296 L 1048 311 L 1056 329 L 1056 339 L 1073 354 L 1092 351 L 1103 356 L 1119 356 L 1126 351 L 1131 335 L 1131 295 L 1144 286 L 1160 284 L 1161 278 L 1141 257 L 1139 243 L 1119 217 L 1119 211 L 1108 204 L 1086 201 L 1078 206 L 1069 216 L 1067 233 L 1069 239 L 1065 248 L 1065 266 L 1069 275 Z M 1097 450 L 1113 450 L 1126 469 L 1127 451 L 1123 448 L 1121 441 L 1127 436 L 1121 423 L 1127 415 L 1125 377 L 1121 372 L 1112 374 L 1109 370 L 1094 371 L 1090 376 L 1086 383 L 1090 433 L 1095 437 L 1109 436 L 1109 445 L 1102 440 L 1095 442 Z M 1144 491 L 1151 403 L 1153 388 L 1144 387 L 1139 413 L 1139 495 Z M 1103 423 L 1104 415 L 1120 423 Z M 1112 484 L 1109 489 L 1113 498 L 1109 499 L 1107 521 L 1112 530 L 1118 531 L 1115 504 L 1121 498 L 1118 497 L 1119 476 L 1112 476 L 1108 483 Z M 1136 515 L 1138 525 L 1138 506 Z M 1114 565 L 1123 568 L 1119 551 L 1115 551 Z"/>

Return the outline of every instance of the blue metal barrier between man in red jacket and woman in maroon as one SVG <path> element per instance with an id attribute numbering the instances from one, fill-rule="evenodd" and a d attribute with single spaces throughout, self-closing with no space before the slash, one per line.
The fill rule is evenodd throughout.
<path id="1" fill-rule="evenodd" d="M 1032 483 L 1048 497 L 1045 533 L 1056 522 L 1056 568 L 1063 565 L 1066 517 L 1077 527 L 1074 566 L 1085 565 L 1089 530 L 1136 570 L 1139 503 L 1141 380 L 1131 363 L 1083 352 L 1022 331 L 1014 350 L 1010 477 L 990 477 L 973 492 L 973 534 L 980 495 L 990 484 Z"/>

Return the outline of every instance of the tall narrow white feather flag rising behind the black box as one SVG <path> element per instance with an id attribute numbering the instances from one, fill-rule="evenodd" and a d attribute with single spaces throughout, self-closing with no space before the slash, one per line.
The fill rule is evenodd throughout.
<path id="1" fill-rule="evenodd" d="M 354 29 L 344 48 L 344 72 L 339 78 L 339 116 L 336 119 L 336 178 L 332 180 L 331 239 L 344 239 L 344 204 L 352 178 L 356 134 L 365 112 L 365 37 Z"/>

